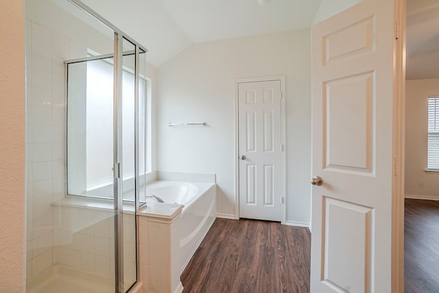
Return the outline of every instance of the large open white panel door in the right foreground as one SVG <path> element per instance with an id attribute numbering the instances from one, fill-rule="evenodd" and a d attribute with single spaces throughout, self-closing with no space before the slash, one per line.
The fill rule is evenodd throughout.
<path id="1" fill-rule="evenodd" d="M 311 292 L 391 292 L 394 3 L 312 34 Z"/>

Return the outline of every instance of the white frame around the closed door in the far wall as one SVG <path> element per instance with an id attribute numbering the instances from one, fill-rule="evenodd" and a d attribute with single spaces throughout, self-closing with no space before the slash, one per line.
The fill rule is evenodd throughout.
<path id="1" fill-rule="evenodd" d="M 239 220 L 239 101 L 238 101 L 238 86 L 241 83 L 247 83 L 247 82 L 269 82 L 278 80 L 281 82 L 281 143 L 282 143 L 282 221 L 281 224 L 285 224 L 285 215 L 286 215 L 286 156 L 285 152 L 287 150 L 286 147 L 286 112 L 285 112 L 285 76 L 283 75 L 276 75 L 276 76 L 268 76 L 268 77 L 260 77 L 260 78 L 239 78 L 235 80 L 235 152 L 233 156 L 233 160 L 235 162 L 235 220 Z"/>

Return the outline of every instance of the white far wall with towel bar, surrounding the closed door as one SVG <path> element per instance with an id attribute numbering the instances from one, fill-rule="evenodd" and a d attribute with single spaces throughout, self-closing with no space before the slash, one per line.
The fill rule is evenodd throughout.
<path id="1" fill-rule="evenodd" d="M 158 170 L 217 174 L 217 212 L 234 216 L 235 80 L 285 75 L 286 219 L 309 224 L 310 67 L 309 30 L 198 43 L 158 67 Z"/>

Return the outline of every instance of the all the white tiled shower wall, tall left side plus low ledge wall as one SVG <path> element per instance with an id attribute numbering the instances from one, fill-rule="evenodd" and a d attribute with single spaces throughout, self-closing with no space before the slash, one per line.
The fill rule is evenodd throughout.
<path id="1" fill-rule="evenodd" d="M 87 46 L 26 22 L 27 279 L 60 264 L 112 278 L 111 210 L 53 205 L 66 195 L 64 60 L 87 56 Z M 124 215 L 124 275 L 136 279 L 134 214 Z M 145 270 L 143 270 L 146 272 Z"/>

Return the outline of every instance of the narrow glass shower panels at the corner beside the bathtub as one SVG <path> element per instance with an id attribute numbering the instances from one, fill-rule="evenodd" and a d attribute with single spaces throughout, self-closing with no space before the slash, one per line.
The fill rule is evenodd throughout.
<path id="1" fill-rule="evenodd" d="M 122 48 L 123 283 L 128 290 L 137 280 L 135 211 L 145 203 L 147 119 L 145 51 L 126 38 Z"/>

